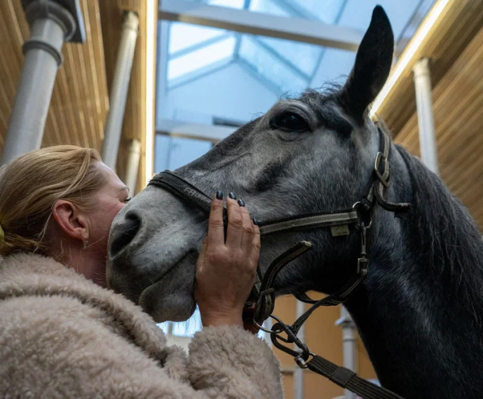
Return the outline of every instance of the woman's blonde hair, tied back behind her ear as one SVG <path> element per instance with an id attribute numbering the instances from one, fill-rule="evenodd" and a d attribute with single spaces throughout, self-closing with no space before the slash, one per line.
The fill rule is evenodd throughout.
<path id="1" fill-rule="evenodd" d="M 0 255 L 46 250 L 44 242 L 52 207 L 67 200 L 88 209 L 90 195 L 105 183 L 95 168 L 94 149 L 53 146 L 27 152 L 0 169 L 0 225 L 5 239 Z"/>

